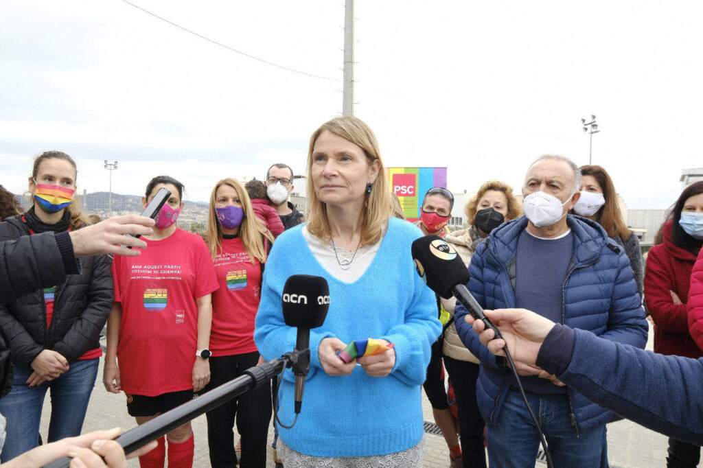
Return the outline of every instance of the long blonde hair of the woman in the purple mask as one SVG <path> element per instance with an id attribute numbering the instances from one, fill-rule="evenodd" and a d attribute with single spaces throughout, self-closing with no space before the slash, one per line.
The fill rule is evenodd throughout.
<path id="1" fill-rule="evenodd" d="M 222 228 L 220 223 L 217 221 L 217 216 L 215 216 L 215 197 L 217 197 L 217 189 L 221 186 L 230 186 L 236 191 L 240 203 L 242 204 L 242 209 L 244 210 L 242 223 L 239 225 L 239 237 L 242 238 L 244 249 L 249 256 L 252 265 L 254 264 L 254 259 L 257 259 L 263 264 L 266 262 L 266 250 L 264 249 L 262 236 L 268 238 L 269 242 L 273 242 L 273 235 L 271 235 L 269 230 L 259 222 L 259 218 L 256 214 L 254 214 L 252 202 L 249 198 L 247 190 L 244 189 L 244 186 L 229 177 L 223 178 L 221 181 L 217 182 L 212 189 L 212 194 L 210 194 L 210 202 L 207 211 L 207 235 L 205 235 L 205 243 L 207 244 L 207 248 L 210 251 L 212 259 L 215 259 L 217 250 L 222 248 Z"/>

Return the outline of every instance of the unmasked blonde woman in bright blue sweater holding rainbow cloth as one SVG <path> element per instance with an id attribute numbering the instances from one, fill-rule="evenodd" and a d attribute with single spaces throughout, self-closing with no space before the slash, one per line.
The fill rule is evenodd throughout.
<path id="1" fill-rule="evenodd" d="M 281 295 L 290 275 L 323 276 L 330 309 L 310 331 L 305 403 L 292 429 L 278 427 L 285 467 L 421 467 L 420 386 L 430 346 L 441 332 L 434 294 L 415 273 L 410 247 L 422 234 L 389 219 L 391 193 L 373 132 L 337 117 L 310 138 L 307 224 L 285 231 L 266 264 L 254 340 L 266 359 L 295 346 Z M 394 348 L 344 364 L 354 339 Z M 293 412 L 293 378 L 280 386 L 278 416 Z M 281 443 L 282 442 L 282 443 Z"/>

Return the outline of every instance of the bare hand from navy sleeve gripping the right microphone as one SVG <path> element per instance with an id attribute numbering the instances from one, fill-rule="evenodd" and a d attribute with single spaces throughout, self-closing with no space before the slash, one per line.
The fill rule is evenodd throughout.
<path id="1" fill-rule="evenodd" d="M 524 308 L 502 308 L 484 313 L 501 331 L 503 339 L 494 339 L 494 331 L 486 330 L 481 320 L 465 316 L 464 320 L 473 324 L 482 344 L 496 356 L 505 356 L 503 348 L 507 345 L 513 360 L 534 366 L 539 349 L 555 323 Z"/>

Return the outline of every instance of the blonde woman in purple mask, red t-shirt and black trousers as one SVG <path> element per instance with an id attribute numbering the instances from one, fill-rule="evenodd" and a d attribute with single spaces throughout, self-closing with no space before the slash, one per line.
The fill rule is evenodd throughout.
<path id="1" fill-rule="evenodd" d="M 259 363 L 254 318 L 259 309 L 264 262 L 273 236 L 252 210 L 245 188 L 233 178 L 210 195 L 207 246 L 219 290 L 212 294 L 212 332 L 207 390 L 243 375 Z M 240 466 L 266 467 L 266 437 L 271 420 L 271 386 L 266 384 L 207 412 L 207 442 L 212 467 L 237 464 L 234 421 L 241 436 Z"/>

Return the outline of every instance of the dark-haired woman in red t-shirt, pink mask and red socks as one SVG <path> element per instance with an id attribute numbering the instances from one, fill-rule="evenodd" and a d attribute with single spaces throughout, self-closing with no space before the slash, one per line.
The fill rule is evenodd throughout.
<path id="1" fill-rule="evenodd" d="M 103 384 L 112 393 L 124 391 L 127 412 L 137 424 L 191 400 L 210 378 L 211 293 L 219 285 L 202 238 L 176 228 L 183 184 L 168 176 L 151 179 L 143 206 L 162 187 L 171 196 L 155 218 L 153 234 L 142 238 L 146 249 L 135 257 L 115 256 L 112 264 L 115 302 Z M 191 467 L 191 423 L 169 432 L 167 439 L 168 466 Z M 158 443 L 139 457 L 141 467 L 164 466 L 164 438 Z"/>

